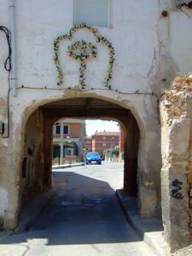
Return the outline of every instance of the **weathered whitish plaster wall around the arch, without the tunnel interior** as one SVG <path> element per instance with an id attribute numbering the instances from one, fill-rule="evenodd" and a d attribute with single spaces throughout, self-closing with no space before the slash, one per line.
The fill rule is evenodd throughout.
<path id="1" fill-rule="evenodd" d="M 9 3 L 0 0 L 0 6 L 0 25 L 9 27 Z M 78 96 L 99 97 L 131 109 L 140 130 L 137 164 L 143 195 L 141 215 L 150 217 L 154 212 L 160 212 L 160 181 L 157 179 L 161 161 L 157 99 L 151 95 L 129 93 L 139 90 L 149 94 L 154 91 L 160 95 L 177 73 L 191 70 L 186 58 L 192 59 L 192 52 L 188 50 L 191 45 L 189 31 L 192 20 L 186 20 L 186 15 L 176 9 L 174 1 L 144 0 L 141 3 L 139 0 L 112 0 L 112 6 L 113 26 L 98 28 L 115 50 L 113 90 L 108 90 L 103 85 L 108 70 L 108 49 L 96 44 L 96 38 L 84 30 L 75 33 L 71 43 L 61 44 L 61 67 L 65 79 L 61 87 L 56 85 L 53 43 L 58 35 L 66 34 L 73 26 L 73 1 L 15 1 L 17 86 L 20 89 L 16 97 L 10 96 L 10 137 L 0 137 L 0 189 L 3 191 L 0 194 L 0 201 L 3 202 L 0 204 L 0 217 L 4 219 L 4 226 L 14 226 L 17 218 L 27 119 L 44 103 Z M 167 16 L 161 15 L 163 10 L 168 11 Z M 177 23 L 174 20 L 176 14 L 179 16 Z M 177 26 L 180 27 L 178 31 Z M 181 49 L 180 44 L 173 42 L 177 38 L 185 38 L 185 47 L 182 48 L 184 54 L 174 57 L 172 54 L 179 53 Z M 72 61 L 66 52 L 68 44 L 81 39 L 98 47 L 98 58 L 87 65 L 86 89 L 90 92 L 78 91 L 79 62 Z M 7 44 L 1 32 L 0 44 L 0 121 L 7 125 L 9 85 L 8 73 L 3 70 Z M 26 88 L 22 88 L 22 85 Z M 41 89 L 44 86 L 46 89 Z M 72 89 L 68 90 L 68 87 Z M 148 196 L 151 205 L 144 202 L 144 195 Z"/>

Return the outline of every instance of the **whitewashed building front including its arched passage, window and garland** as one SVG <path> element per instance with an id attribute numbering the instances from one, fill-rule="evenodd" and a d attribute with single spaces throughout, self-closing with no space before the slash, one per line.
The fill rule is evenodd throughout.
<path id="1" fill-rule="evenodd" d="M 172 189 L 161 197 L 158 108 L 172 79 L 192 70 L 192 9 L 176 0 L 91 2 L 0 0 L 4 228 L 17 224 L 24 197 L 50 187 L 52 127 L 61 118 L 119 121 L 124 189 L 137 196 L 141 217 L 162 217 L 165 230 L 171 221 L 172 207 L 161 204 Z"/>

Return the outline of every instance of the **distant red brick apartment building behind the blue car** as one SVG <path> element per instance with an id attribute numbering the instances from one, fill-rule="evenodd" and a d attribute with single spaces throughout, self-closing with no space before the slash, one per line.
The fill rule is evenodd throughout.
<path id="1" fill-rule="evenodd" d="M 102 131 L 92 136 L 92 151 L 102 154 L 107 149 L 119 148 L 119 132 Z"/>

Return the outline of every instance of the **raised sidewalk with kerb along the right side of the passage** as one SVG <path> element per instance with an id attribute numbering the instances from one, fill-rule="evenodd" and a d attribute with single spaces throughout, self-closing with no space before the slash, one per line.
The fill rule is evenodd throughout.
<path id="1" fill-rule="evenodd" d="M 132 228 L 143 238 L 156 255 L 166 256 L 168 247 L 163 238 L 163 226 L 158 218 L 140 218 L 137 207 L 137 199 L 126 195 L 123 189 L 117 189 L 116 194 L 119 203 L 125 212 L 125 217 Z"/>

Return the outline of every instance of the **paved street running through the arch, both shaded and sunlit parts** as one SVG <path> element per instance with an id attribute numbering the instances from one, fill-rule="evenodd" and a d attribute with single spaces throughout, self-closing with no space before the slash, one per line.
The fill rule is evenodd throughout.
<path id="1" fill-rule="evenodd" d="M 123 164 L 53 173 L 55 197 L 28 233 L 1 241 L 0 255 L 154 255 L 119 207 Z"/>

